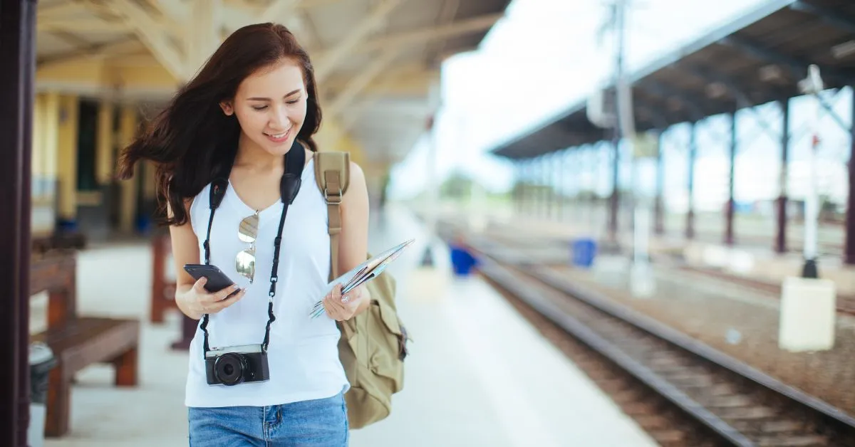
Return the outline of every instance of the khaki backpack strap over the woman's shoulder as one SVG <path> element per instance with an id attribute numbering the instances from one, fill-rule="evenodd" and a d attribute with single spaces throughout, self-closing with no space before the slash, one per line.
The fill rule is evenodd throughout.
<path id="1" fill-rule="evenodd" d="M 330 280 L 339 277 L 339 233 L 341 198 L 351 182 L 351 155 L 347 152 L 315 152 L 315 181 L 327 202 Z"/>

